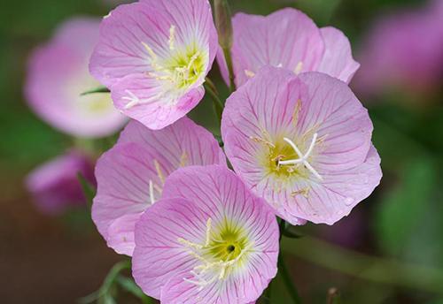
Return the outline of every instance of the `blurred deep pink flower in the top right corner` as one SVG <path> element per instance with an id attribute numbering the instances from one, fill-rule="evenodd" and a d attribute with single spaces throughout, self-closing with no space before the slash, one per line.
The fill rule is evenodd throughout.
<path id="1" fill-rule="evenodd" d="M 428 91 L 443 81 L 443 1 L 398 11 L 376 21 L 361 46 L 355 87 L 363 94 L 386 88 Z"/>

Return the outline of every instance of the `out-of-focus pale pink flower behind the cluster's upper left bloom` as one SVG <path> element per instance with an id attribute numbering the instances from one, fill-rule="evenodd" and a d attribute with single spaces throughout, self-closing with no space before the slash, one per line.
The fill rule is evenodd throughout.
<path id="1" fill-rule="evenodd" d="M 98 41 L 97 19 L 71 19 L 30 57 L 26 95 L 31 108 L 59 130 L 80 137 L 115 133 L 126 119 L 109 94 L 81 96 L 99 86 L 88 72 Z"/>

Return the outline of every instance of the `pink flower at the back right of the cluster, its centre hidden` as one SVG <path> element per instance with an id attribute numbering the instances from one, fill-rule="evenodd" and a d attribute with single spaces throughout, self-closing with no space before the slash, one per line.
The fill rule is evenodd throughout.
<path id="1" fill-rule="evenodd" d="M 237 13 L 232 19 L 232 61 L 237 87 L 264 65 L 300 72 L 325 72 L 349 82 L 359 68 L 346 36 L 334 27 L 318 28 L 301 11 L 286 8 L 268 16 Z M 223 78 L 228 71 L 221 50 L 217 55 Z M 227 81 L 228 82 L 228 81 Z"/>

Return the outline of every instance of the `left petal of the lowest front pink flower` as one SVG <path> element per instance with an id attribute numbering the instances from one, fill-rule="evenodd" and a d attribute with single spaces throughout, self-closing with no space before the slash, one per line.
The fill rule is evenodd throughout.
<path id="1" fill-rule="evenodd" d="M 202 242 L 207 215 L 183 198 L 156 202 L 136 224 L 132 274 L 144 293 L 159 299 L 160 288 L 177 273 L 192 270 L 195 258 L 177 240 Z"/>

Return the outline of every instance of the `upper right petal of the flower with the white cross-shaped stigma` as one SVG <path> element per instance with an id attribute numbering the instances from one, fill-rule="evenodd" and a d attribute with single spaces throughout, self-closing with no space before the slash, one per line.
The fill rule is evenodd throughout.
<path id="1" fill-rule="evenodd" d="M 319 72 L 307 72 L 299 79 L 308 88 L 307 101 L 297 122 L 297 132 L 313 129 L 321 138 L 321 152 L 315 158 L 320 171 L 346 170 L 361 164 L 368 155 L 372 122 L 368 110 L 340 80 Z"/>

